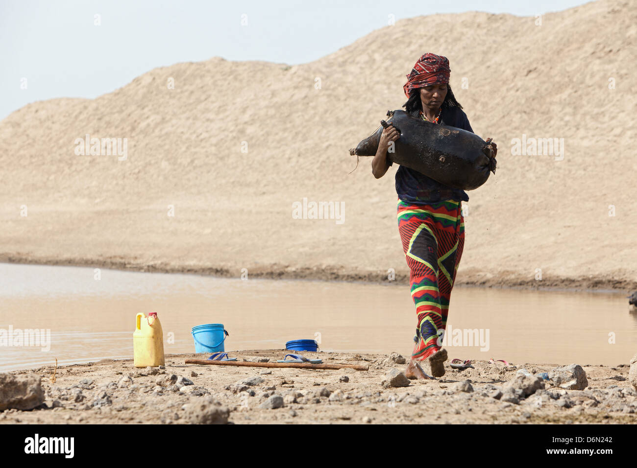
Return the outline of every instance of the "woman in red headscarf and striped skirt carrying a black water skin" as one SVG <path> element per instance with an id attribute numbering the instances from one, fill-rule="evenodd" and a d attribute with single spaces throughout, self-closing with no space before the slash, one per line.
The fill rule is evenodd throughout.
<path id="1" fill-rule="evenodd" d="M 433 53 L 422 55 L 407 75 L 403 89 L 409 99 L 403 107 L 407 113 L 427 122 L 473 132 L 448 86 L 450 71 L 447 57 Z M 392 165 L 387 159 L 387 149 L 399 136 L 392 125 L 383 130 L 371 163 L 375 178 L 385 175 Z M 495 156 L 496 144 L 490 144 Z M 464 190 L 447 187 L 404 166 L 396 171 L 396 193 L 398 230 L 410 269 L 412 299 L 418 316 L 412 359 L 405 374 L 412 379 L 429 378 L 419 364 L 427 361 L 431 374 L 441 377 L 445 374 L 447 350 L 440 344 L 464 246 L 462 201 L 469 201 L 469 197 Z"/>

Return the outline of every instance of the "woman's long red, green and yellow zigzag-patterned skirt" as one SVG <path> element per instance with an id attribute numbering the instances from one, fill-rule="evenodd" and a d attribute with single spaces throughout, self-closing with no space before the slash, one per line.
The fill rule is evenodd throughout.
<path id="1" fill-rule="evenodd" d="M 398 230 L 418 316 L 412 359 L 423 360 L 440 350 L 438 337 L 447 327 L 451 290 L 464 247 L 462 202 L 412 205 L 399 200 Z"/>

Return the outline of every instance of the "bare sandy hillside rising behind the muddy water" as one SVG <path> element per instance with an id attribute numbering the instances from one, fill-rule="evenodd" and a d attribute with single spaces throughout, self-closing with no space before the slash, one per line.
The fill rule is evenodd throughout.
<path id="1" fill-rule="evenodd" d="M 375 180 L 361 159 L 348 174 L 348 149 L 401 108 L 405 74 L 435 52 L 474 131 L 499 144 L 496 176 L 469 192 L 458 282 L 637 287 L 637 6 L 604 0 L 536 22 L 410 18 L 308 64 L 214 57 L 97 99 L 29 104 L 0 122 L 0 257 L 404 278 L 396 167 Z M 86 134 L 126 138 L 127 160 L 76 155 Z M 523 135 L 563 138 L 564 159 L 513 155 Z M 344 222 L 293 218 L 304 198 L 344 202 Z"/>

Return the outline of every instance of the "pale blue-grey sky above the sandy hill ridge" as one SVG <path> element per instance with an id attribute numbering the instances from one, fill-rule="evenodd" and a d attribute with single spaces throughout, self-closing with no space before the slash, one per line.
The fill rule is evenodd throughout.
<path id="1" fill-rule="evenodd" d="M 94 98 L 136 76 L 219 56 L 301 64 L 396 20 L 487 11 L 534 16 L 582 0 L 0 0 L 0 119 L 34 101 Z M 95 25 L 95 15 L 101 25 Z M 241 15 L 247 25 L 241 25 Z M 26 88 L 21 89 L 26 80 Z"/>

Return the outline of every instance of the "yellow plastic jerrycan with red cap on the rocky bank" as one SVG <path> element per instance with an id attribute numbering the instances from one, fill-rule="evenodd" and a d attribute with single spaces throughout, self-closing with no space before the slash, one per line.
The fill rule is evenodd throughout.
<path id="1" fill-rule="evenodd" d="M 151 312 L 148 316 L 138 313 L 132 333 L 132 348 L 135 367 L 164 365 L 164 332 L 157 312 Z"/>

